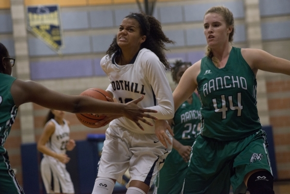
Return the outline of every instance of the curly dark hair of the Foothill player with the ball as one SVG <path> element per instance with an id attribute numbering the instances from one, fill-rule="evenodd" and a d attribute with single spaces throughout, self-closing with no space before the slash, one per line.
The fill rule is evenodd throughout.
<path id="1" fill-rule="evenodd" d="M 131 13 L 124 18 L 131 18 L 137 20 L 139 23 L 140 33 L 141 35 L 146 36 L 145 42 L 143 42 L 140 46 L 140 49 L 146 48 L 154 52 L 161 63 L 163 63 L 167 69 L 170 69 L 169 62 L 165 57 L 164 50 L 168 50 L 165 48 L 165 43 L 175 44 L 174 41 L 170 40 L 162 31 L 161 23 L 153 16 L 148 16 L 144 13 Z M 112 44 L 107 50 L 107 55 L 111 57 L 116 51 L 118 51 L 120 47 L 117 44 L 117 35 L 113 39 Z"/>

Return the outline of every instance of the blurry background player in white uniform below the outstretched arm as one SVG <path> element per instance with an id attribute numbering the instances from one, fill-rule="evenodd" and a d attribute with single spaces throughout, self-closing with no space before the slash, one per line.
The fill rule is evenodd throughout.
<path id="1" fill-rule="evenodd" d="M 64 112 L 49 110 L 45 127 L 40 136 L 37 149 L 44 155 L 40 172 L 47 194 L 74 194 L 74 185 L 65 164 L 70 158 L 65 154 L 76 146 L 70 139 L 69 121 L 63 119 Z"/>

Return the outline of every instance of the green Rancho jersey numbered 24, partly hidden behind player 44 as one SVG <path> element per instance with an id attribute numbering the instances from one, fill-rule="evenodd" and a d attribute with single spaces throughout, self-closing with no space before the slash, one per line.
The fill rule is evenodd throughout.
<path id="1" fill-rule="evenodd" d="M 197 94 L 192 94 L 192 103 L 183 102 L 174 114 L 174 138 L 184 146 L 192 146 L 198 133 L 201 103 Z"/>

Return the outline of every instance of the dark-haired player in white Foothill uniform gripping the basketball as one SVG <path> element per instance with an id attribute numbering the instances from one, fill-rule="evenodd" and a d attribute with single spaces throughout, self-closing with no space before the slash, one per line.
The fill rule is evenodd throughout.
<path id="1" fill-rule="evenodd" d="M 167 120 L 174 111 L 164 43 L 173 41 L 162 32 L 158 20 L 143 13 L 130 14 L 122 20 L 101 67 L 111 82 L 107 92 L 112 98 L 127 103 L 144 95 L 139 105 L 157 110 L 152 115 Z M 167 145 L 158 140 L 154 127 L 140 130 L 123 117 L 110 122 L 92 194 L 111 194 L 127 169 L 131 179 L 126 194 L 147 194 L 172 148 L 169 132 L 160 135 L 167 138 Z"/>

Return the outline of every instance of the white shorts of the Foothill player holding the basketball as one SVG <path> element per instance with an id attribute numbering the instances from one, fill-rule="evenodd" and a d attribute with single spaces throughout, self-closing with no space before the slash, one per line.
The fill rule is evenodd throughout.
<path id="1" fill-rule="evenodd" d="M 172 142 L 171 135 L 169 132 L 167 134 Z M 151 187 L 171 149 L 171 145 L 168 148 L 163 146 L 155 134 L 139 134 L 110 125 L 98 164 L 98 177 L 121 182 L 122 175 L 128 169 L 130 181 L 140 180 Z"/>

